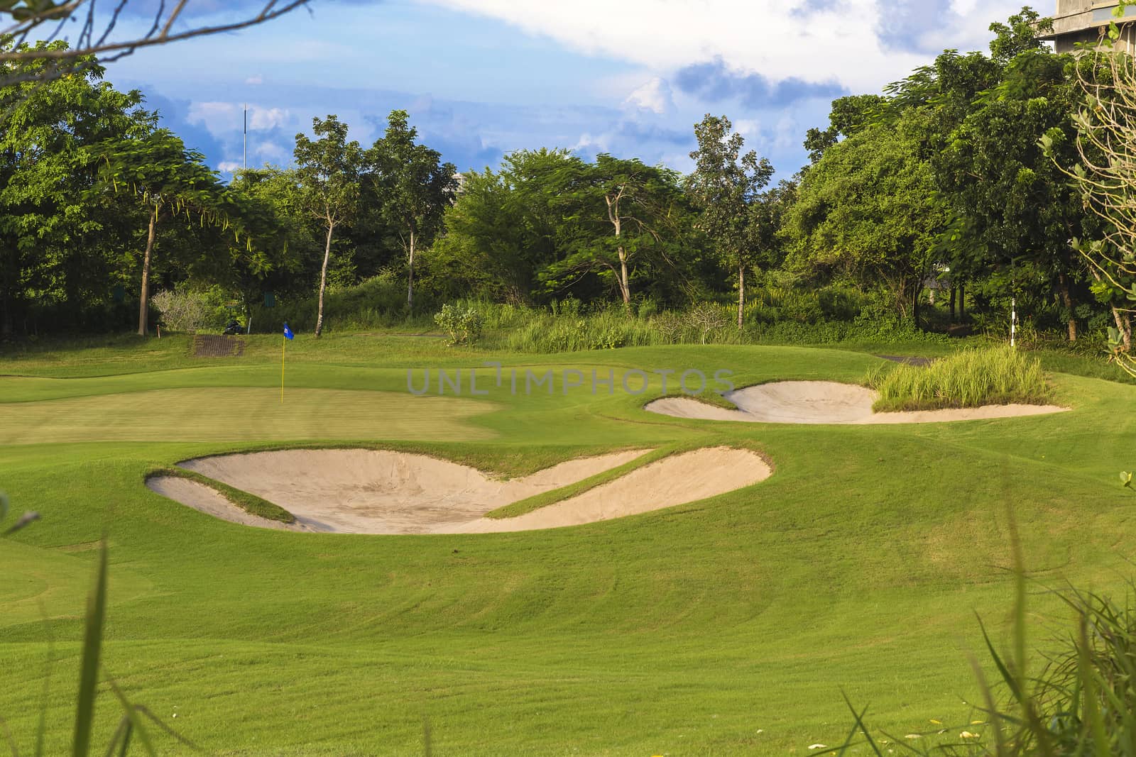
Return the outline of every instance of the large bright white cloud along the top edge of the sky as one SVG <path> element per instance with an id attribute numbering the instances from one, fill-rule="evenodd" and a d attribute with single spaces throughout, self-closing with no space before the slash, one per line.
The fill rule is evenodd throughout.
<path id="1" fill-rule="evenodd" d="M 921 2 L 921 0 L 914 0 Z M 852 91 L 883 84 L 924 65 L 927 54 L 889 50 L 878 35 L 884 0 L 843 0 L 811 9 L 807 0 L 419 0 L 506 20 L 533 35 L 595 56 L 668 72 L 720 57 L 730 68 L 780 82 L 824 83 Z M 933 36 L 968 48 L 989 22 L 1021 0 L 952 0 Z M 979 44 L 984 37 L 979 34 Z"/>

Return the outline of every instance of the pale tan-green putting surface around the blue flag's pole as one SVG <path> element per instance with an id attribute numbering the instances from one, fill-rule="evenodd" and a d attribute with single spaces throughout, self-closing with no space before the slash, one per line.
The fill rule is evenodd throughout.
<path id="1" fill-rule="evenodd" d="M 458 397 L 216 387 L 0 404 L 6 444 L 272 439 L 488 439 L 467 422 L 493 410 Z"/>

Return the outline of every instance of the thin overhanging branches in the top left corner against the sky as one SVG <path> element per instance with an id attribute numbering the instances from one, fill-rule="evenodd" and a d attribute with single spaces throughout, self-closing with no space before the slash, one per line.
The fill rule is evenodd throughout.
<path id="1" fill-rule="evenodd" d="M 95 0 L 0 0 L 0 39 L 11 40 L 15 45 L 0 50 L 0 61 L 31 62 L 39 66 L 24 69 L 7 69 L 0 77 L 0 84 L 14 84 L 28 81 L 50 81 L 68 73 L 82 74 L 86 68 L 95 66 L 94 56 L 106 64 L 128 56 L 140 48 L 148 48 L 168 42 L 177 42 L 195 36 L 235 32 L 278 18 L 308 0 L 265 0 L 259 10 L 216 26 L 185 25 L 194 5 L 190 0 L 176 2 L 147 3 L 137 0 L 117 0 L 111 9 L 102 8 L 98 12 Z M 150 5 L 152 10 L 141 9 L 136 12 L 150 16 L 150 25 L 141 36 L 115 39 L 112 33 L 124 12 Z M 206 3 L 198 3 L 203 6 Z M 176 28 L 175 28 L 176 27 Z M 56 40 L 66 28 L 77 28 L 78 34 L 62 45 L 27 47 L 36 36 Z"/>

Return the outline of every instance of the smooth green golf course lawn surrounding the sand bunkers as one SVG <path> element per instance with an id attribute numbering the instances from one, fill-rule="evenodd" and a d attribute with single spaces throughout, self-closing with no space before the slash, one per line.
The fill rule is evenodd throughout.
<path id="1" fill-rule="evenodd" d="M 420 755 L 424 717 L 436 755 L 804 755 L 847 733 L 842 690 L 874 727 L 966 723 L 978 693 L 967 655 L 985 658 L 975 612 L 996 644 L 1009 638 L 1008 505 L 1033 575 L 1109 591 L 1131 572 L 1134 504 L 1116 483 L 1136 446 L 1136 421 L 1117 412 L 1136 401 L 1129 385 L 1054 375 L 1053 401 L 1072 407 L 1059 415 L 724 423 L 643 412 L 658 379 L 641 396 L 513 396 L 479 368 L 490 395 L 417 399 L 406 370 L 494 358 L 506 371 L 596 368 L 617 380 L 724 368 L 745 386 L 857 381 L 882 362 L 836 348 L 516 355 L 299 335 L 294 406 L 276 395 L 275 407 L 242 411 L 240 390 L 278 392 L 278 351 L 253 336 L 225 360 L 166 338 L 0 358 L 0 373 L 25 377 L 0 378 L 0 489 L 43 516 L 0 541 L 0 716 L 22 751 L 50 654 L 47 754 L 67 750 L 105 530 L 105 676 L 218 755 Z M 236 399 L 210 404 L 226 396 Z M 431 410 L 442 401 L 461 412 Z M 406 448 L 523 476 L 603 451 L 719 444 L 760 449 L 774 476 L 521 533 L 252 529 L 143 486 L 187 457 L 293 445 Z M 1058 608 L 1045 595 L 1030 603 Z M 122 710 L 99 691 L 92 743 L 106 745 Z M 160 754 L 184 752 L 151 735 Z"/>

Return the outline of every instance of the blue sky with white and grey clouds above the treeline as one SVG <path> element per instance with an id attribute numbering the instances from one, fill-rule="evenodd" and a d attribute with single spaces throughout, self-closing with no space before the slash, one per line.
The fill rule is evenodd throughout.
<path id="1" fill-rule="evenodd" d="M 985 50 L 991 22 L 1022 2 L 311 0 L 260 27 L 136 52 L 108 77 L 142 90 L 223 171 L 241 165 L 248 103 L 250 166 L 286 165 L 314 116 L 337 113 L 366 146 L 402 108 L 460 170 L 541 146 L 686 170 L 693 124 L 713 112 L 788 176 L 834 98 L 878 92 L 944 48 Z M 194 23 L 256 5 L 191 0 Z"/>

